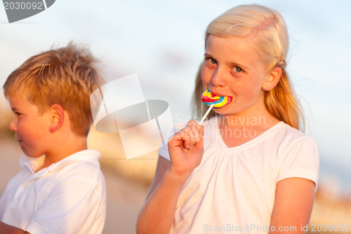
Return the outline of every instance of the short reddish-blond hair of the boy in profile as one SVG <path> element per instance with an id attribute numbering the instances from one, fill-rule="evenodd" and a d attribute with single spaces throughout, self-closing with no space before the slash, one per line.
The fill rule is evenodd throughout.
<path id="1" fill-rule="evenodd" d="M 61 105 L 72 132 L 87 136 L 93 119 L 90 95 L 102 82 L 96 63 L 87 48 L 71 42 L 26 60 L 8 76 L 4 94 L 25 98 L 41 114 L 53 104 Z"/>

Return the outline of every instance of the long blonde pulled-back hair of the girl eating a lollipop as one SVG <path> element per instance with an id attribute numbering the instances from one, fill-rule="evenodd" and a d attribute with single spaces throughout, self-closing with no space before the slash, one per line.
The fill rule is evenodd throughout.
<path id="1" fill-rule="evenodd" d="M 282 15 L 256 4 L 237 6 L 208 25 L 205 46 L 210 34 L 216 37 L 252 37 L 255 41 L 253 46 L 256 46 L 267 64 L 267 71 L 274 67 L 282 67 L 282 77 L 277 86 L 265 92 L 265 105 L 274 117 L 299 129 L 299 124 L 303 124 L 303 115 L 285 70 L 289 39 Z M 204 115 L 206 111 L 206 106 L 201 101 L 203 89 L 200 68 L 193 98 L 197 115 Z M 214 115 L 216 113 L 212 112 L 211 116 Z"/>

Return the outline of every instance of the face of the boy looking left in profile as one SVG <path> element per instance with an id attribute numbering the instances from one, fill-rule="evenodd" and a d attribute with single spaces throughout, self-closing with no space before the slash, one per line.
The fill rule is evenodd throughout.
<path id="1" fill-rule="evenodd" d="M 20 96 L 8 96 L 12 111 L 13 121 L 11 131 L 20 143 L 20 148 L 29 157 L 39 157 L 47 153 L 50 115 L 45 112 L 39 115 L 36 105 L 29 103 Z"/>

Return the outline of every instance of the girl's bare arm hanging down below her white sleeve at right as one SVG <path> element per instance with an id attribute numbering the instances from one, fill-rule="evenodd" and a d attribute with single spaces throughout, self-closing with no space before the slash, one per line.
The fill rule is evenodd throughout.
<path id="1" fill-rule="evenodd" d="M 270 233 L 306 233 L 305 226 L 310 221 L 314 190 L 314 182 L 305 178 L 285 178 L 279 181 Z"/>

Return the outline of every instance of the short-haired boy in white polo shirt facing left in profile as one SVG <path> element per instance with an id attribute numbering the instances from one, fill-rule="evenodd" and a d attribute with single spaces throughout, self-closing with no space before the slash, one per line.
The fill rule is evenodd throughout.
<path id="1" fill-rule="evenodd" d="M 100 152 L 87 150 L 95 59 L 68 44 L 29 58 L 4 84 L 22 171 L 0 200 L 0 233 L 101 233 L 106 185 Z"/>

